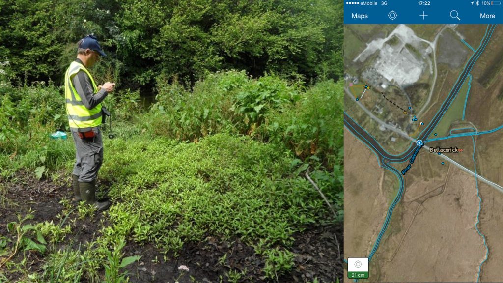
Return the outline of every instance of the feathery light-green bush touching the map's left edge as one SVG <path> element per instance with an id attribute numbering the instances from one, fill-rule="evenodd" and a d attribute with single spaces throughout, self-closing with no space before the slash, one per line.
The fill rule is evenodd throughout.
<path id="1" fill-rule="evenodd" d="M 344 149 L 343 85 L 324 81 L 316 84 L 295 104 L 282 112 L 271 111 L 258 133 L 281 143 L 298 157 L 314 156 L 329 168 L 342 164 Z"/>

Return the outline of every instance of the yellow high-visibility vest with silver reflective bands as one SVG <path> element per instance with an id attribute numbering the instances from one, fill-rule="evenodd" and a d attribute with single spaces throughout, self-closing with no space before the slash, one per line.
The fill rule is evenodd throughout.
<path id="1" fill-rule="evenodd" d="M 87 109 L 82 99 L 78 95 L 75 87 L 73 86 L 72 79 L 77 73 L 82 70 L 88 74 L 93 84 L 94 93 L 98 92 L 93 76 L 89 73 L 86 67 L 78 62 L 71 62 L 66 70 L 64 78 L 64 96 L 66 98 L 66 114 L 68 115 L 68 123 L 70 128 L 77 129 L 83 128 L 90 130 L 92 127 L 101 125 L 102 112 L 101 103 L 93 109 Z"/>

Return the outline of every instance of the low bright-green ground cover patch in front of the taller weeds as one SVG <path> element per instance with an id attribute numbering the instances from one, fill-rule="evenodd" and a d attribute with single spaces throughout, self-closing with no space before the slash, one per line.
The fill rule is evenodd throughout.
<path id="1" fill-rule="evenodd" d="M 107 237 L 153 241 L 165 250 L 207 233 L 290 244 L 292 233 L 324 213 L 308 181 L 289 176 L 291 154 L 277 146 L 226 134 L 190 144 L 113 142 L 102 176 L 113 181 L 113 198 L 128 201 L 107 212 Z"/>

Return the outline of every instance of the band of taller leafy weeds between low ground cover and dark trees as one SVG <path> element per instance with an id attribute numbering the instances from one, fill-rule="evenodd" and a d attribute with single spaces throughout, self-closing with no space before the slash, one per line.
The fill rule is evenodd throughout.
<path id="1" fill-rule="evenodd" d="M 164 81 L 158 86 L 142 125 L 154 135 L 195 140 L 217 132 L 245 134 L 282 144 L 302 160 L 328 168 L 342 164 L 342 82 L 304 89 L 275 76 L 251 79 L 228 71 L 198 81 L 192 92 Z"/>

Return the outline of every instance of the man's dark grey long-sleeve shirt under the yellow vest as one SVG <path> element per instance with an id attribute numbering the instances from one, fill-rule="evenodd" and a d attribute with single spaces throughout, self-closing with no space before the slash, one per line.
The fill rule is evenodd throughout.
<path id="1" fill-rule="evenodd" d="M 80 59 L 75 59 L 75 61 L 83 65 Z M 108 92 L 103 88 L 95 94 L 91 79 L 88 74 L 82 70 L 73 77 L 71 82 L 73 83 L 73 87 L 75 87 L 78 96 L 80 96 L 82 103 L 87 109 L 95 108 L 108 95 Z"/>

